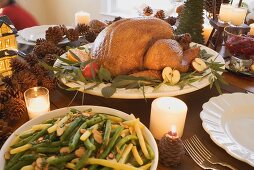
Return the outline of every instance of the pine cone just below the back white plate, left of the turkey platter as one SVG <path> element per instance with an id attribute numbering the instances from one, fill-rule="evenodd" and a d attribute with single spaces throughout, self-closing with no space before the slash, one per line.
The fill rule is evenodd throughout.
<path id="1" fill-rule="evenodd" d="M 40 45 L 36 45 L 33 49 L 33 53 L 37 55 L 38 58 L 42 59 L 46 54 L 55 54 L 58 47 L 52 42 L 44 42 Z"/>

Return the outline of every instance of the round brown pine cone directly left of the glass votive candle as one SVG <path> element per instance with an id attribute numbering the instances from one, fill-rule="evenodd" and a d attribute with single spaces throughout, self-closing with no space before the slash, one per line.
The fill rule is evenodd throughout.
<path id="1" fill-rule="evenodd" d="M 19 120 L 22 116 L 27 114 L 26 104 L 24 100 L 18 98 L 11 98 L 5 103 L 6 119 Z"/>

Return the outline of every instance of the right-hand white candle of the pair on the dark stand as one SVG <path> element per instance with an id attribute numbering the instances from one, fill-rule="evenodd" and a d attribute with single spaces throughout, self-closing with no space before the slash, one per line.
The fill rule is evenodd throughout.
<path id="1" fill-rule="evenodd" d="M 247 14 L 247 8 L 233 8 L 232 16 L 231 16 L 231 24 L 239 26 L 244 23 L 245 17 Z"/>

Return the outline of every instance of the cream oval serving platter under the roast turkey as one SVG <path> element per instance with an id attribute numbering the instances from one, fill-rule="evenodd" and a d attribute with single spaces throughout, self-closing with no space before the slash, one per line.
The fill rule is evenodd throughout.
<path id="1" fill-rule="evenodd" d="M 214 60 L 215 62 L 225 64 L 224 59 L 221 55 L 219 55 L 216 51 L 201 45 L 201 44 L 195 44 L 192 43 L 191 46 L 198 45 L 200 46 L 201 50 L 204 49 L 208 54 L 211 54 L 212 57 L 209 58 L 209 60 Z M 91 44 L 89 44 L 91 47 Z M 66 54 L 63 54 L 60 56 L 62 58 L 66 58 Z M 54 67 L 61 67 L 61 65 L 64 65 L 64 63 L 57 59 L 54 63 Z M 208 69 L 207 72 L 209 73 L 210 70 Z M 77 82 L 67 82 L 65 78 L 61 79 L 62 83 L 64 83 L 66 86 L 74 89 L 78 89 L 81 92 L 85 92 L 88 94 L 96 95 L 96 96 L 103 96 L 101 93 L 102 88 L 109 86 L 110 83 L 101 83 L 98 86 L 89 89 L 84 90 L 87 88 L 92 87 L 95 85 L 95 83 L 83 83 L 80 81 Z M 125 88 L 117 88 L 116 92 L 111 96 L 111 98 L 121 98 L 121 99 L 143 99 L 144 95 L 146 98 L 157 98 L 157 97 L 165 97 L 165 96 L 178 96 L 186 93 L 190 93 L 199 89 L 202 89 L 209 85 L 209 76 L 204 77 L 200 81 L 196 81 L 192 83 L 191 85 L 186 85 L 184 88 L 180 88 L 179 86 L 168 86 L 168 85 L 161 85 L 159 88 L 153 88 L 151 86 L 145 86 L 144 89 L 125 89 Z M 144 92 L 144 93 L 143 93 Z"/>

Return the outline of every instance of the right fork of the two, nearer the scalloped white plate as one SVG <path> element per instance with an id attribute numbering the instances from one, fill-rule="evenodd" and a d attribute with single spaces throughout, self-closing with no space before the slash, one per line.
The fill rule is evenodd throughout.
<path id="1" fill-rule="evenodd" d="M 197 151 L 200 153 L 200 155 L 205 158 L 208 162 L 210 162 L 211 164 L 219 164 L 222 165 L 224 167 L 230 168 L 232 170 L 237 170 L 235 167 L 225 163 L 225 162 L 221 162 L 219 161 L 204 145 L 203 143 L 199 140 L 199 138 L 197 137 L 197 135 L 194 135 L 190 138 L 190 141 L 192 142 L 192 144 L 195 146 L 195 148 L 197 149 Z"/>

